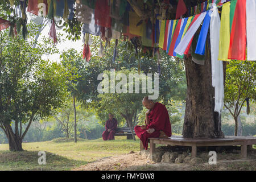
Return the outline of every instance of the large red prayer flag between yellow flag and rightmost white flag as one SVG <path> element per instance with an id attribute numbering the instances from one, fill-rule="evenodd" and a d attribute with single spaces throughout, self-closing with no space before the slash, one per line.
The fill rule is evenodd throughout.
<path id="1" fill-rule="evenodd" d="M 230 34 L 228 59 L 246 59 L 246 1 L 237 1 Z"/>

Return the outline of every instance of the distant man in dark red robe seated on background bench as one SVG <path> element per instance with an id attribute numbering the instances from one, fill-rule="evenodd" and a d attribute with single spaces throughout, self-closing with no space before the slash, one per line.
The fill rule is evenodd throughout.
<path id="1" fill-rule="evenodd" d="M 105 131 L 102 133 L 103 140 L 114 140 L 115 129 L 117 128 L 117 119 L 113 118 L 113 114 L 109 113 L 109 119 L 106 121 Z"/>

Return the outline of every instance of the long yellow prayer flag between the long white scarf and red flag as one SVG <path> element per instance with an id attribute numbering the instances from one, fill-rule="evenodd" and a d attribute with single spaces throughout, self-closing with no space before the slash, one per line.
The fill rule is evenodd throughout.
<path id="1" fill-rule="evenodd" d="M 256 17 L 256 16 L 255 16 Z M 220 27 L 220 49 L 218 60 L 229 61 L 229 43 L 230 43 L 230 2 L 222 6 L 221 27 Z"/>

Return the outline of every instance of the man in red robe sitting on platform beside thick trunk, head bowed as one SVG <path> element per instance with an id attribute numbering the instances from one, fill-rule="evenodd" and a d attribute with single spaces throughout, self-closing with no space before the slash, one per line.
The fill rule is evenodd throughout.
<path id="1" fill-rule="evenodd" d="M 160 134 L 163 136 L 165 134 L 166 138 L 171 137 L 172 129 L 166 106 L 148 100 L 148 97 L 143 98 L 142 104 L 148 109 L 145 119 L 146 126 L 135 126 L 134 131 L 141 139 L 144 149 L 147 150 L 148 138 L 159 138 Z"/>

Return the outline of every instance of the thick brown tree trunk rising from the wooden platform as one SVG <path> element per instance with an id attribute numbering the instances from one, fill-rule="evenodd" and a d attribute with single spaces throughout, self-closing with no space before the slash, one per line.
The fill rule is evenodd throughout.
<path id="1" fill-rule="evenodd" d="M 206 48 L 204 65 L 194 63 L 191 57 L 184 59 L 187 77 L 184 138 L 224 137 L 221 131 L 221 114 L 214 112 L 214 88 L 209 52 Z"/>

